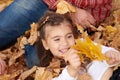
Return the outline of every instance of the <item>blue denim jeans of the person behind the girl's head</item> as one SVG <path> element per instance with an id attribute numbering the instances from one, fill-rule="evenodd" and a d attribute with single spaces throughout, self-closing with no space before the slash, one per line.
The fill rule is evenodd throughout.
<path id="1" fill-rule="evenodd" d="M 42 0 L 15 0 L 0 12 L 0 49 L 15 42 L 26 30 L 30 29 L 29 25 L 36 22 L 47 10 L 48 6 Z M 35 47 L 29 45 L 25 48 L 29 68 L 39 65 L 38 54 L 33 49 Z"/>

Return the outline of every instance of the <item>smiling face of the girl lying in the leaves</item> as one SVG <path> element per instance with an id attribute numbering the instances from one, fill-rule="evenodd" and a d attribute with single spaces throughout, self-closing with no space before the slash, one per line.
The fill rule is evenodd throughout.
<path id="1" fill-rule="evenodd" d="M 68 24 L 59 26 L 47 26 L 45 28 L 45 40 L 42 40 L 46 50 L 50 49 L 51 53 L 62 58 L 72 45 L 75 44 L 73 32 Z"/>

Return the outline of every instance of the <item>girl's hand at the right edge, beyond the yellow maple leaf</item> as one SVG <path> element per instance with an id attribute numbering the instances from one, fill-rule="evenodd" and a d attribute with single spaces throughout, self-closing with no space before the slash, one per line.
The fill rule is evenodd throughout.
<path id="1" fill-rule="evenodd" d="M 110 50 L 105 53 L 105 56 L 109 58 L 107 61 L 109 65 L 120 64 L 120 52 Z"/>

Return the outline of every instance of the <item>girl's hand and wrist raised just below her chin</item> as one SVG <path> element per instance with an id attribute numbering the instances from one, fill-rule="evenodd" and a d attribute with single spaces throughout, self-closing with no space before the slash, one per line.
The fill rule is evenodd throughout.
<path id="1" fill-rule="evenodd" d="M 69 51 L 67 51 L 67 53 L 65 53 L 65 61 L 69 62 L 67 68 L 68 73 L 72 77 L 76 77 L 81 65 L 80 57 L 77 54 L 77 51 L 74 49 L 70 49 Z"/>

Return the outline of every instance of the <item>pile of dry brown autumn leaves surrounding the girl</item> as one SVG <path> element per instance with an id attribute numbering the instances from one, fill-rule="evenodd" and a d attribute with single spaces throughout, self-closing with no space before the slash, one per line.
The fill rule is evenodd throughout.
<path id="1" fill-rule="evenodd" d="M 115 3 L 116 0 L 114 0 L 113 5 L 115 5 Z M 63 1 L 62 5 L 63 4 L 65 4 L 64 7 L 61 6 L 61 3 L 58 4 L 57 7 L 59 8 L 57 12 L 66 13 L 68 11 L 75 11 L 74 7 L 71 7 L 66 2 Z M 116 4 L 118 5 L 118 2 Z M 89 37 L 95 42 L 114 47 L 120 51 L 120 9 L 119 6 L 116 5 L 113 9 L 114 11 L 111 13 L 110 17 L 95 29 L 96 32 L 94 35 Z M 28 30 L 25 33 L 25 35 L 30 35 L 29 38 L 21 36 L 18 38 L 15 45 L 6 50 L 0 51 L 2 59 L 5 60 L 7 64 L 7 69 L 5 73 L 0 76 L 0 80 L 50 80 L 52 77 L 59 75 L 62 68 L 60 68 L 60 61 L 57 59 L 53 59 L 50 65 L 46 68 L 34 66 L 33 68 L 28 69 L 26 67 L 24 45 L 28 43 L 31 45 L 34 44 L 37 36 L 39 36 L 36 29 L 36 24 L 32 24 L 31 30 Z"/>

